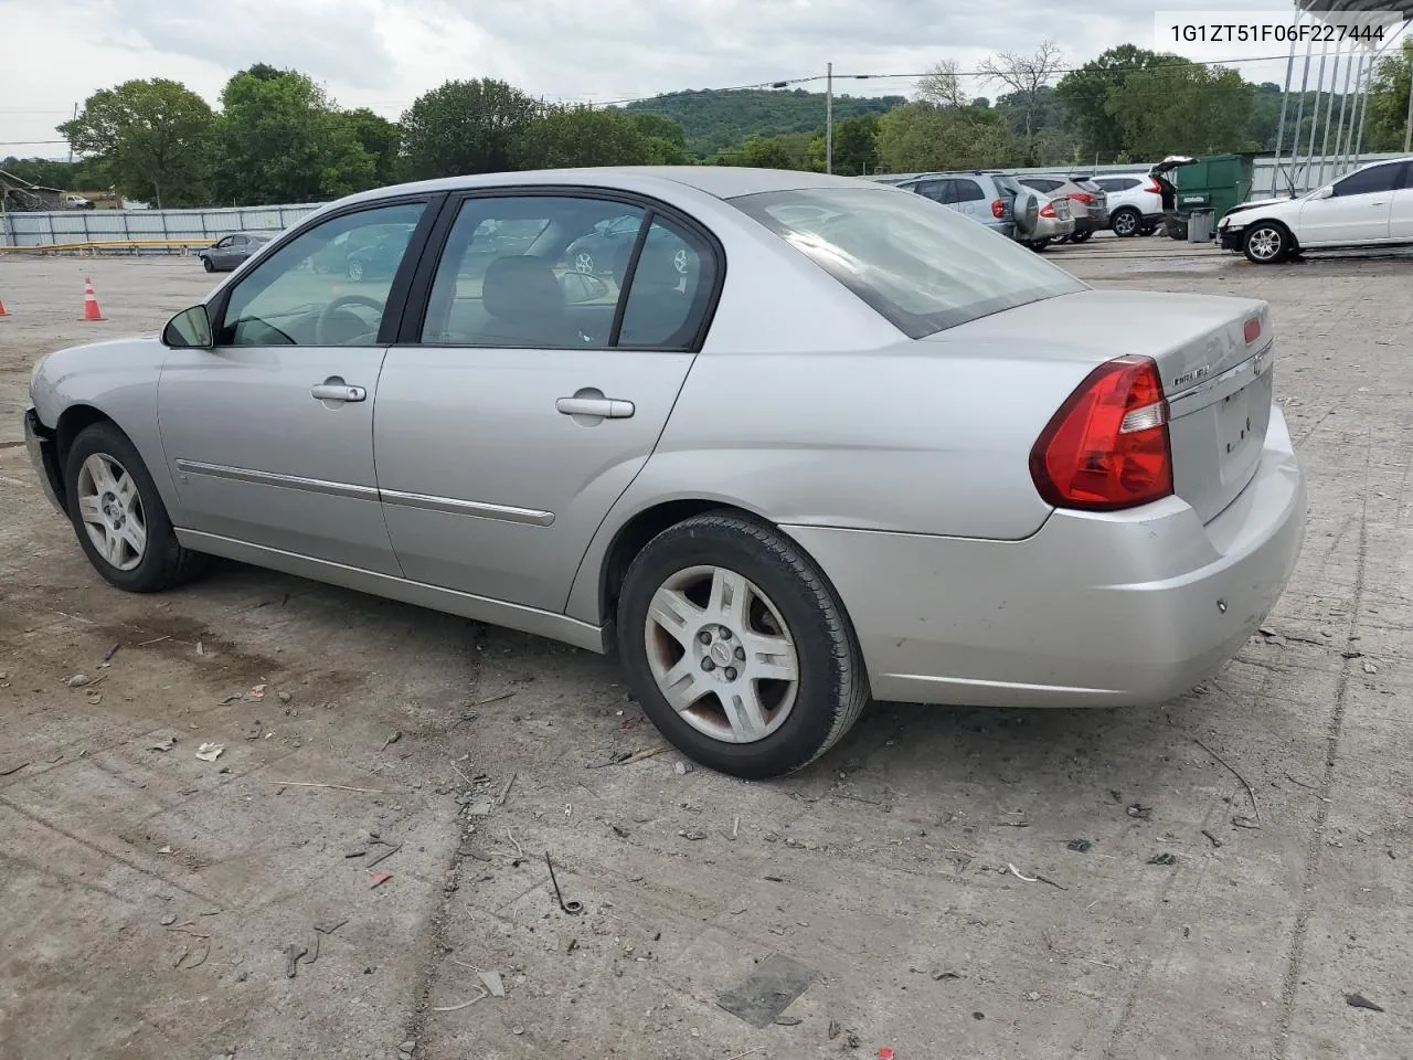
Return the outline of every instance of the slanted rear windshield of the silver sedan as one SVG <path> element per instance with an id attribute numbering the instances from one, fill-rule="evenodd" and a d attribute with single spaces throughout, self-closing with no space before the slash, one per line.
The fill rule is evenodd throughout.
<path id="1" fill-rule="evenodd" d="M 803 188 L 731 202 L 914 339 L 1085 290 L 1031 250 L 906 191 Z"/>

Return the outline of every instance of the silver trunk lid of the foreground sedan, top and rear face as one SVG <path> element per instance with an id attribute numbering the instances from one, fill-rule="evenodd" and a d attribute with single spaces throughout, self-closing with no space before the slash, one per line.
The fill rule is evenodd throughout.
<path id="1" fill-rule="evenodd" d="M 1251 321 L 1259 322 L 1260 334 L 1248 342 Z M 1170 407 L 1174 492 L 1207 523 L 1256 473 L 1272 403 L 1266 302 L 1091 290 L 983 317 L 926 341 L 1026 345 L 1030 358 L 1087 369 L 1125 353 L 1153 358 Z M 1084 372 L 1075 384 L 1082 377 Z M 1065 397 L 1057 397 L 1057 408 Z"/>

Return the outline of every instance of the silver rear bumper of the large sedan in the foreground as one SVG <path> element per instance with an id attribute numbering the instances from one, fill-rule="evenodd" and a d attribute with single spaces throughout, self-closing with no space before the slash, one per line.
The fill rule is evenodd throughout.
<path id="1" fill-rule="evenodd" d="M 1023 541 L 787 527 L 853 620 L 873 695 L 903 702 L 1164 702 L 1217 673 L 1294 568 L 1306 486 L 1279 408 L 1256 476 L 1202 526 L 1177 497 L 1056 512 Z"/>

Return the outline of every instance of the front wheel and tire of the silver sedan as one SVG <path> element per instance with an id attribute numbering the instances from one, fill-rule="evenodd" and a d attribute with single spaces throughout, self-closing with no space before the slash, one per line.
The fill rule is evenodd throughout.
<path id="1" fill-rule="evenodd" d="M 116 490 L 106 489 L 109 483 L 95 475 L 99 466 L 107 469 L 110 485 L 117 486 Z M 133 492 L 127 493 L 127 489 Z M 158 592 L 195 578 L 206 565 L 206 555 L 188 551 L 177 541 L 147 465 L 127 435 L 109 421 L 83 428 L 73 440 L 65 461 L 64 496 L 73 533 L 93 570 L 120 589 Z M 123 496 L 129 496 L 126 503 Z M 85 497 L 92 497 L 92 503 Z M 114 519 L 105 520 L 103 505 L 109 506 Z M 85 512 L 105 520 L 109 529 L 114 523 L 129 527 L 129 533 L 90 527 Z M 130 531 L 134 523 L 144 530 L 140 550 L 134 547 Z M 112 553 L 116 558 L 100 551 L 95 537 L 105 541 L 119 538 L 120 548 Z"/>

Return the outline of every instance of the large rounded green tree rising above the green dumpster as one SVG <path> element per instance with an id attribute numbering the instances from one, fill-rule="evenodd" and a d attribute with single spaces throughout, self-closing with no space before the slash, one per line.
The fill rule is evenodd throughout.
<path id="1" fill-rule="evenodd" d="M 1161 158 L 1255 147 L 1249 133 L 1255 85 L 1236 71 L 1164 58 L 1161 66 L 1129 73 L 1105 103 L 1122 129 L 1125 150 Z"/>

